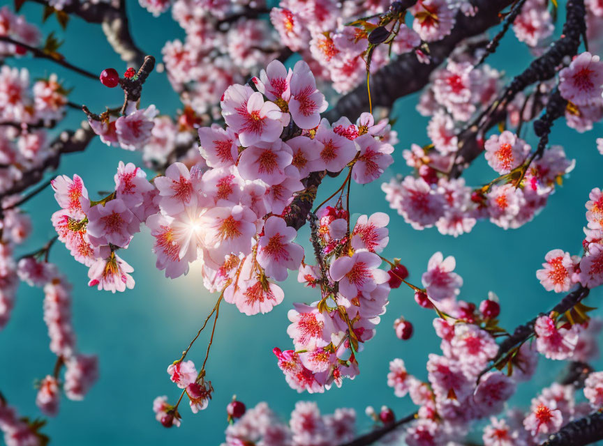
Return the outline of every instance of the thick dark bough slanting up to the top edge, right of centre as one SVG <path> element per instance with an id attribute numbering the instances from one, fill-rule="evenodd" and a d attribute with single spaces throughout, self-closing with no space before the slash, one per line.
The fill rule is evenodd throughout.
<path id="1" fill-rule="evenodd" d="M 449 36 L 429 44 L 431 63 L 422 63 L 414 52 L 403 54 L 392 63 L 381 68 L 371 76 L 371 100 L 373 106 L 392 107 L 394 102 L 405 95 L 419 91 L 429 82 L 431 72 L 447 59 L 461 40 L 478 36 L 500 22 L 500 12 L 514 0 L 474 0 L 477 14 L 466 17 L 459 12 L 456 25 Z M 366 85 L 357 86 L 343 95 L 336 106 L 327 114 L 329 119 L 338 116 L 357 117 L 362 110 L 368 109 Z"/>

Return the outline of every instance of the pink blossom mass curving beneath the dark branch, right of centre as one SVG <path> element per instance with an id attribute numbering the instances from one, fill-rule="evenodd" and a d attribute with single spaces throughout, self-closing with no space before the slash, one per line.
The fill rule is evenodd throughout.
<path id="1" fill-rule="evenodd" d="M 475 189 L 456 178 L 455 169 L 463 162 L 459 153 L 463 127 L 496 98 L 499 88 L 500 73 L 487 65 L 475 66 L 479 55 L 459 50 L 445 68 L 433 72 L 431 85 L 417 106 L 420 113 L 431 116 L 427 127 L 431 144 L 412 144 L 403 151 L 415 175 L 382 185 L 389 206 L 415 229 L 436 226 L 440 233 L 456 237 L 485 219 L 503 229 L 518 228 L 544 208 L 560 178 L 574 167 L 560 146 L 551 146 L 534 158 L 526 141 L 504 130 L 476 142 L 499 176 Z M 507 105 L 509 123 L 519 127 L 531 118 L 528 112 L 533 110 L 526 109 L 538 107 L 533 96 Z M 522 102 L 532 105 L 522 107 Z"/>

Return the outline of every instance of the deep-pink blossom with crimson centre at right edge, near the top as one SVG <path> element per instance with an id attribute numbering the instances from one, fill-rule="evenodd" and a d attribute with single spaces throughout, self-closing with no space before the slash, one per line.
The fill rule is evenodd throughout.
<path id="1" fill-rule="evenodd" d="M 575 105 L 601 102 L 603 93 L 603 62 L 599 56 L 583 52 L 567 68 L 559 72 L 559 91 Z"/>

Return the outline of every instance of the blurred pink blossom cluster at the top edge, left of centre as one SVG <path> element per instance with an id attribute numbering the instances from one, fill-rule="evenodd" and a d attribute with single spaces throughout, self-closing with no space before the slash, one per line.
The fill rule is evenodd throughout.
<path id="1" fill-rule="evenodd" d="M 158 2 L 146 2 L 158 3 Z M 165 5 L 169 2 L 160 2 Z M 223 91 L 276 59 L 281 46 L 267 20 L 241 14 L 246 2 L 177 0 L 172 17 L 186 38 L 163 47 L 163 61 L 175 91 L 199 114 L 218 116 Z M 263 1 L 254 2 L 262 8 Z"/>

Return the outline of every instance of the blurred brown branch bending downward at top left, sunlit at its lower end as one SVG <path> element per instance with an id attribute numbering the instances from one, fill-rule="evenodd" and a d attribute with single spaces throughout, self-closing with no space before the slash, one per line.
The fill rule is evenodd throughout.
<path id="1" fill-rule="evenodd" d="M 52 8 L 47 0 L 30 0 Z M 62 12 L 73 14 L 86 22 L 101 24 L 107 41 L 119 54 L 121 60 L 130 66 L 140 66 L 144 62 L 144 52 L 135 44 L 130 33 L 126 0 L 105 2 L 71 1 L 63 6 Z"/>

